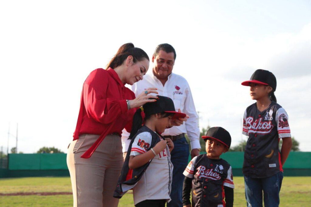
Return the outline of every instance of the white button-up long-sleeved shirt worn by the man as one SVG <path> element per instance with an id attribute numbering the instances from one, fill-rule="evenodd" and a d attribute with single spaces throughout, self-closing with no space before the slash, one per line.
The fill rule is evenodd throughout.
<path id="1" fill-rule="evenodd" d="M 161 81 L 158 80 L 153 74 L 153 71 L 151 71 L 151 73 L 144 76 L 143 80 L 132 85 L 132 91 L 136 96 L 141 94 L 147 88 L 157 88 L 159 93 L 158 95 L 167 96 L 174 101 L 176 111 L 180 109 L 182 113 L 189 115 L 187 122 L 184 122 L 184 124 L 180 126 L 165 129 L 162 136 L 176 136 L 185 133 L 188 134 L 191 149 L 201 149 L 199 141 L 200 129 L 198 127 L 198 115 L 195 110 L 191 90 L 186 79 L 182 76 L 171 73 L 163 86 Z M 128 136 L 129 133 L 124 129 L 122 134 L 123 152 L 128 150 L 128 144 L 130 141 L 127 139 Z"/>

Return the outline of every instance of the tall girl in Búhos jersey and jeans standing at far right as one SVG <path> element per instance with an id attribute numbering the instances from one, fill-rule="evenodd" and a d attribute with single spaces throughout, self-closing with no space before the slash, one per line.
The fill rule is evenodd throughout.
<path id="1" fill-rule="evenodd" d="M 262 192 L 265 206 L 279 206 L 282 166 L 292 145 L 288 115 L 276 103 L 272 72 L 258 69 L 242 85 L 250 86 L 250 96 L 256 100 L 246 108 L 243 118 L 243 134 L 248 136 L 243 163 L 247 206 L 262 206 Z"/>

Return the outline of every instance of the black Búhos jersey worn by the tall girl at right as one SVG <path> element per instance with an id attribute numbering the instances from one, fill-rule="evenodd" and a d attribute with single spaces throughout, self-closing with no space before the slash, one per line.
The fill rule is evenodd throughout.
<path id="1" fill-rule="evenodd" d="M 244 152 L 243 173 L 254 178 L 270 177 L 283 171 L 279 139 L 290 137 L 288 115 L 272 101 L 260 112 L 254 103 L 246 108 L 243 134 L 248 136 Z"/>

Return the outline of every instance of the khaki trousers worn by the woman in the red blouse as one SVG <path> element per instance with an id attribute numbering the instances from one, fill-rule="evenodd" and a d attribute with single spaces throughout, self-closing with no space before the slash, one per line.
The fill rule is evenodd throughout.
<path id="1" fill-rule="evenodd" d="M 123 165 L 121 138 L 107 135 L 92 156 L 81 155 L 99 135 L 84 134 L 70 143 L 67 166 L 70 173 L 74 207 L 117 207 L 119 199 L 112 195 Z"/>

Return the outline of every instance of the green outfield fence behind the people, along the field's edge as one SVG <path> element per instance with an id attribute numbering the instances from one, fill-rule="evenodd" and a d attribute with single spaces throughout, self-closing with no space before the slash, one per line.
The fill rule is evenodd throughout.
<path id="1" fill-rule="evenodd" d="M 7 168 L 0 168 L 0 177 L 69 176 L 66 155 L 9 154 Z M 231 164 L 234 176 L 242 176 L 243 156 L 243 152 L 227 152 L 221 158 Z M 311 152 L 290 152 L 283 168 L 284 176 L 311 176 Z"/>

